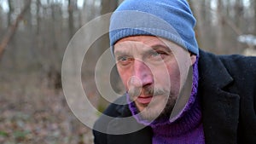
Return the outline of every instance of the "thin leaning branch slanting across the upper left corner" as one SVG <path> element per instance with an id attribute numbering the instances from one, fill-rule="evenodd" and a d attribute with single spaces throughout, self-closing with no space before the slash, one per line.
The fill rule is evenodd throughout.
<path id="1" fill-rule="evenodd" d="M 24 9 L 22 9 L 22 11 L 20 12 L 20 14 L 17 16 L 15 22 L 14 22 L 11 26 L 9 26 L 8 32 L 7 32 L 7 33 L 5 34 L 5 36 L 3 37 L 3 40 L 2 40 L 2 42 L 0 43 L 0 59 L 2 58 L 3 52 L 4 52 L 4 50 L 6 49 L 6 47 L 7 47 L 8 43 L 9 43 L 9 41 L 10 41 L 11 38 L 14 36 L 15 31 L 16 31 L 18 25 L 19 25 L 20 20 L 23 19 L 23 16 L 24 16 L 24 14 L 26 13 L 26 10 L 29 9 L 30 4 L 31 4 L 31 1 L 32 1 L 32 0 L 28 0 L 28 1 L 27 1 L 27 3 L 26 3 L 26 5 L 25 5 Z"/>

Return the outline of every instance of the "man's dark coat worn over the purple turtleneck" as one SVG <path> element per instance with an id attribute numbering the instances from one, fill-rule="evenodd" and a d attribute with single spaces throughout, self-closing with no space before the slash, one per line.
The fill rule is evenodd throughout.
<path id="1" fill-rule="evenodd" d="M 199 88 L 206 144 L 256 144 L 256 58 L 241 55 L 212 55 L 200 50 Z M 118 101 L 125 101 L 124 97 Z M 111 104 L 105 114 L 131 116 L 128 107 Z M 120 129 L 99 118 L 95 127 Z M 132 126 L 132 124 L 128 125 Z M 152 130 L 126 135 L 93 131 L 95 144 L 151 144 Z"/>

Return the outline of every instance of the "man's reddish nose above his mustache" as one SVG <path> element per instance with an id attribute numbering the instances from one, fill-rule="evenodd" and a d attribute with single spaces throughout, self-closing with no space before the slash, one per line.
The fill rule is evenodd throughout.
<path id="1" fill-rule="evenodd" d="M 135 87 L 143 87 L 153 84 L 154 78 L 150 68 L 141 60 L 135 60 L 133 66 L 133 76 L 131 84 Z"/>

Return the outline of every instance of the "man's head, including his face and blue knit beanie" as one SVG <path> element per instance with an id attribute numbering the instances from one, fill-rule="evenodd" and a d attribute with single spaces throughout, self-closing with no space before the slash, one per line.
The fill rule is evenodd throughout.
<path id="1" fill-rule="evenodd" d="M 195 18 L 183 0 L 125 0 L 113 13 L 113 55 L 143 118 L 172 112 L 198 55 L 194 26 Z"/>

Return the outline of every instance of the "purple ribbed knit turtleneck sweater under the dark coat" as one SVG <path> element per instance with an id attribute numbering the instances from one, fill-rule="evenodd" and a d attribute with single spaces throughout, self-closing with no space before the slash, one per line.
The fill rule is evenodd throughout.
<path id="1" fill-rule="evenodd" d="M 204 144 L 204 132 L 201 121 L 201 106 L 197 96 L 198 88 L 198 58 L 193 66 L 193 85 L 189 101 L 179 113 L 179 117 L 170 122 L 169 118 L 154 120 L 149 124 L 154 132 L 153 144 Z M 134 102 L 129 101 L 129 108 L 133 116 L 141 124 L 147 122 L 140 120 L 136 115 L 137 108 Z M 172 121 L 172 119 L 171 119 Z"/>

